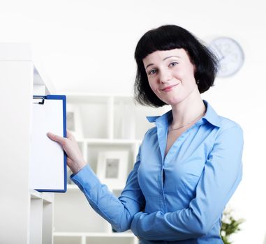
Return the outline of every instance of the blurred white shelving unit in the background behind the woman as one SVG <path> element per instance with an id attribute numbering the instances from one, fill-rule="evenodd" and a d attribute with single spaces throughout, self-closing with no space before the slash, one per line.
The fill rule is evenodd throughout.
<path id="1" fill-rule="evenodd" d="M 145 116 L 163 114 L 169 107 L 153 109 L 135 105 L 133 96 L 114 94 L 66 93 L 67 110 L 74 112 L 75 137 L 91 168 L 96 172 L 100 151 L 128 151 L 127 173 L 133 169 L 142 137 L 154 126 Z M 69 124 L 69 123 L 68 123 Z M 124 188 L 108 188 L 119 196 Z M 111 226 L 89 206 L 76 185 L 66 194 L 55 194 L 54 244 L 136 244 L 131 231 L 113 233 Z"/>

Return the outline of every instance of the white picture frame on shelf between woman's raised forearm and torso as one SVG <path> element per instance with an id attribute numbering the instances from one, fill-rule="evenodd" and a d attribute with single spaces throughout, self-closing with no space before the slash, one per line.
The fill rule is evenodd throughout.
<path id="1" fill-rule="evenodd" d="M 96 174 L 112 189 L 122 189 L 128 173 L 128 151 L 100 151 Z"/>

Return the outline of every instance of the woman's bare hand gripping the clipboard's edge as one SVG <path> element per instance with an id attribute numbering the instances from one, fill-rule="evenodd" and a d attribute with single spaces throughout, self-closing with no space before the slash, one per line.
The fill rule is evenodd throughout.
<path id="1" fill-rule="evenodd" d="M 77 141 L 69 130 L 67 130 L 66 138 L 54 135 L 51 132 L 47 133 L 47 137 L 54 142 L 58 142 L 62 146 L 66 155 L 68 155 L 66 162 L 73 174 L 76 174 L 86 165 L 86 162 L 82 158 L 80 148 L 77 145 Z"/>

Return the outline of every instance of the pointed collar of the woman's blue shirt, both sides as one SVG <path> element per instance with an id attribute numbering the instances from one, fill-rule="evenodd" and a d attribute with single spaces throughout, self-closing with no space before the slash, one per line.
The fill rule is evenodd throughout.
<path id="1" fill-rule="evenodd" d="M 203 100 L 203 102 L 207 110 L 206 110 L 205 115 L 202 117 L 202 119 L 205 119 L 206 121 L 208 121 L 209 123 L 211 123 L 212 125 L 216 127 L 221 127 L 221 121 L 220 121 L 219 115 L 216 114 L 212 106 L 209 105 L 209 102 L 207 102 L 206 100 Z M 168 125 L 170 121 L 172 121 L 172 110 L 166 112 L 165 114 L 161 116 L 147 116 L 146 118 L 150 123 L 155 122 L 156 124 L 163 123 L 163 124 Z"/>

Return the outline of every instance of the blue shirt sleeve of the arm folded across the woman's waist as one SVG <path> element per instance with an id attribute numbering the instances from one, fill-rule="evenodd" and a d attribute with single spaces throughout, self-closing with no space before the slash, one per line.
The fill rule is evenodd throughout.
<path id="1" fill-rule="evenodd" d="M 209 153 L 189 207 L 172 213 L 137 213 L 131 229 L 147 240 L 179 241 L 205 235 L 219 221 L 242 178 L 242 129 L 220 132 Z M 148 201 L 149 199 L 147 199 Z"/>

